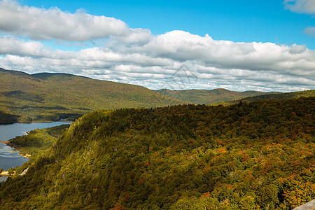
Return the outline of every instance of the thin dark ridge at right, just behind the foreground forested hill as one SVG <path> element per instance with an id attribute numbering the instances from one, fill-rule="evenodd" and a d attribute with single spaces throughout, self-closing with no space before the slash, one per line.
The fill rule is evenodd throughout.
<path id="1" fill-rule="evenodd" d="M 315 97 L 315 90 L 303 90 L 297 92 L 283 92 L 276 94 L 263 94 L 254 97 L 246 97 L 244 99 L 239 99 L 230 102 L 216 103 L 214 105 L 231 105 L 239 104 L 239 102 L 256 102 L 256 101 L 265 101 L 265 100 L 281 100 L 281 99 L 298 99 L 300 97 Z"/>

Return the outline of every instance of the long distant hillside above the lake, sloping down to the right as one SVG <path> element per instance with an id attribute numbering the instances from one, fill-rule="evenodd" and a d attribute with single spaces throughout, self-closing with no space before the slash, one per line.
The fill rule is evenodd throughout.
<path id="1" fill-rule="evenodd" d="M 185 104 L 145 87 L 94 80 L 66 73 L 36 73 L 0 69 L 0 111 L 19 121 L 76 118 L 98 109 Z"/>

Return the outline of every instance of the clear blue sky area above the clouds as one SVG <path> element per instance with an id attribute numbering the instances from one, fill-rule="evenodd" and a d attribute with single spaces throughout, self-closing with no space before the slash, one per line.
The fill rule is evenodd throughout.
<path id="1" fill-rule="evenodd" d="M 183 30 L 218 40 L 273 42 L 307 45 L 315 50 L 315 38 L 304 32 L 315 26 L 314 15 L 288 10 L 279 0 L 265 1 L 22 1 L 28 6 L 57 6 L 75 13 L 82 8 L 92 15 L 113 17 L 131 28 L 153 34 Z"/>

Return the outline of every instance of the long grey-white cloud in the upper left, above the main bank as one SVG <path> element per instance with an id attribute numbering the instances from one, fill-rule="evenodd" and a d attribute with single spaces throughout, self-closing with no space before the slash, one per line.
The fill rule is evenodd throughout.
<path id="1" fill-rule="evenodd" d="M 90 15 L 82 10 L 65 13 L 59 8 L 45 10 L 21 6 L 17 1 L 9 0 L 0 1 L 0 31 L 35 40 L 62 41 L 90 41 L 114 36 L 126 42 L 142 42 L 151 36 L 150 31 L 130 29 L 116 18 Z"/>

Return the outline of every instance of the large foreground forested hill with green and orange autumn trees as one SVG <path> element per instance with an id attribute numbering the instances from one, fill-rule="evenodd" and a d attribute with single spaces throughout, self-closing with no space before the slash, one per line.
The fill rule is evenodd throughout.
<path id="1" fill-rule="evenodd" d="M 25 176 L 5 209 L 293 209 L 315 197 L 315 97 L 94 111 Z"/>

